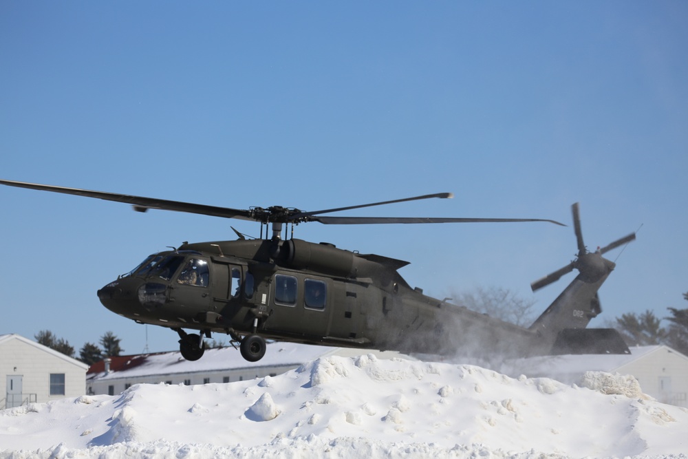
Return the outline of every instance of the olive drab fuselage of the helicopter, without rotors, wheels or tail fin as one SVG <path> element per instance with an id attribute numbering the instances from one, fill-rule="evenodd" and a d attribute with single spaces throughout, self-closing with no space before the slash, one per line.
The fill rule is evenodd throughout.
<path id="1" fill-rule="evenodd" d="M 406 264 L 300 239 L 183 244 L 149 256 L 98 297 L 139 323 L 230 334 L 237 341 L 259 334 L 433 354 L 462 347 L 480 355 L 517 354 L 537 338 L 423 295 L 397 273 Z"/>

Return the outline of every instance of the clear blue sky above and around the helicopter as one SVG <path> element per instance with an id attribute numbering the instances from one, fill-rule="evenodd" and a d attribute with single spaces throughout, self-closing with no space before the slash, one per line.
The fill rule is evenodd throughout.
<path id="1" fill-rule="evenodd" d="M 603 315 L 686 308 L 688 3 L 0 4 L 0 178 L 247 209 L 543 217 L 581 203 L 591 250 L 636 231 Z M 182 241 L 259 225 L 1 187 L 0 333 L 78 349 L 146 328 L 96 290 Z M 411 261 L 429 295 L 498 286 L 544 310 L 574 275 L 572 226 L 297 227 Z M 612 260 L 621 252 L 610 252 Z M 177 336 L 148 327 L 151 351 Z"/>

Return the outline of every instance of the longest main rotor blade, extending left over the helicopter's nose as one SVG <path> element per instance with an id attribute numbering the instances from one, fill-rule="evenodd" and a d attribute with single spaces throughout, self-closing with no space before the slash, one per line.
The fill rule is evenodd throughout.
<path id="1" fill-rule="evenodd" d="M 137 211 L 147 211 L 148 209 L 161 209 L 164 211 L 178 211 L 187 213 L 197 213 L 201 215 L 211 215 L 213 217 L 238 218 L 240 220 L 255 220 L 249 211 L 228 209 L 226 207 L 206 206 L 205 204 L 192 204 L 190 202 L 169 201 L 155 198 L 144 198 L 142 196 L 121 195 L 118 193 L 106 193 L 104 191 L 91 191 L 78 188 L 67 188 L 65 186 L 43 185 L 36 183 L 15 182 L 14 180 L 0 180 L 0 184 L 17 186 L 39 191 L 52 191 L 53 193 L 64 193 L 68 195 L 85 196 L 87 198 L 98 198 L 106 201 L 123 202 L 131 204 Z"/>

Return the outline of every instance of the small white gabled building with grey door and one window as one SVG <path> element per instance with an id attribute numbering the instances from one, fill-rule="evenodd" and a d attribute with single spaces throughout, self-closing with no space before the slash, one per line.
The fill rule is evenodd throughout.
<path id="1" fill-rule="evenodd" d="M 19 336 L 0 334 L 0 409 L 86 393 L 88 365 Z"/>

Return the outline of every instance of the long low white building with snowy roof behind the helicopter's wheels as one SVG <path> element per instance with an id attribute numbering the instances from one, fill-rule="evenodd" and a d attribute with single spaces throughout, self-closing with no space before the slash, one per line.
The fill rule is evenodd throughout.
<path id="1" fill-rule="evenodd" d="M 197 361 L 185 360 L 180 352 L 118 356 L 90 367 L 86 379 L 87 394 L 119 394 L 140 383 L 196 385 L 244 381 L 276 376 L 323 356 L 368 353 L 377 354 L 381 359 L 400 356 L 397 352 L 347 350 L 279 341 L 268 342 L 265 356 L 255 363 L 244 360 L 241 353 L 232 347 L 208 349 Z"/>

